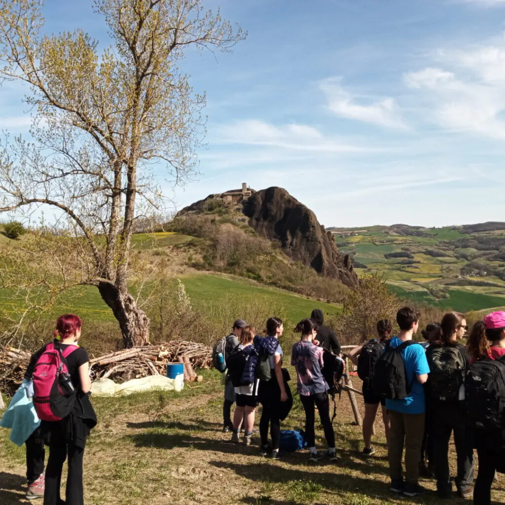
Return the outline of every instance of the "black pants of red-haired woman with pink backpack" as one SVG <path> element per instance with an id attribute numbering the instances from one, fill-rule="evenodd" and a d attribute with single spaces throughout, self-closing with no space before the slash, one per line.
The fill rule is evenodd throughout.
<path id="1" fill-rule="evenodd" d="M 60 505 L 60 486 L 63 463 L 68 455 L 68 476 L 65 491 L 65 505 L 84 505 L 82 489 L 82 457 L 84 448 L 62 438 L 51 437 L 49 459 L 45 469 L 44 505 Z"/>

